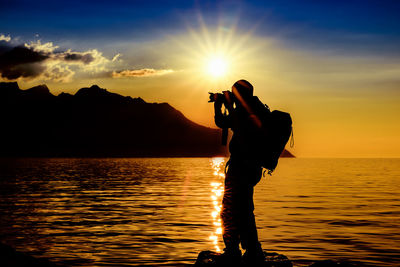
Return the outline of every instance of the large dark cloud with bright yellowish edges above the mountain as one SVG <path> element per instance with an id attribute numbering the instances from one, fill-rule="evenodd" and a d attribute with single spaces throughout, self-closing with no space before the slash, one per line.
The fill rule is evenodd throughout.
<path id="1" fill-rule="evenodd" d="M 110 60 L 96 49 L 62 51 L 52 42 L 41 43 L 40 40 L 12 46 L 8 43 L 11 37 L 0 37 L 0 76 L 7 80 L 25 78 L 67 82 L 76 71 L 111 73 L 112 65 L 120 62 L 120 54 Z"/>

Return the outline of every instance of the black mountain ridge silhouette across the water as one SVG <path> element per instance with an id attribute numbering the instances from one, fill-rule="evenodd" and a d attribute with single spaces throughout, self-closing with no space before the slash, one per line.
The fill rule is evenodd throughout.
<path id="1" fill-rule="evenodd" d="M 167 103 L 147 103 L 97 85 L 55 96 L 46 85 L 21 90 L 16 82 L 2 82 L 0 119 L 0 156 L 227 155 L 219 129 L 196 124 Z"/>

